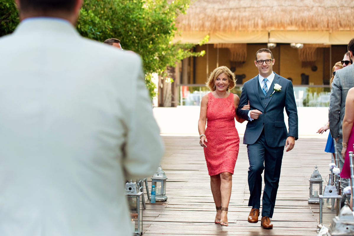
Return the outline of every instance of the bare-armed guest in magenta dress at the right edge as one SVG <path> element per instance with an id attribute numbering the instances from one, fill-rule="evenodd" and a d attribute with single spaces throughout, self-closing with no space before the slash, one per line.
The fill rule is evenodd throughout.
<path id="1" fill-rule="evenodd" d="M 343 118 L 343 149 L 342 157 L 344 160 L 341 178 L 350 179 L 350 160 L 349 152 L 353 152 L 354 144 L 354 88 L 349 89 L 346 99 L 346 114 Z M 350 209 L 352 209 L 353 197 L 350 200 Z"/>

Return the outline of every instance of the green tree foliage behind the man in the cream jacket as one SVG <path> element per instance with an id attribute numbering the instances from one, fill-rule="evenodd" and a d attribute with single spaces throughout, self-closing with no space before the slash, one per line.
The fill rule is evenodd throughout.
<path id="1" fill-rule="evenodd" d="M 11 33 L 18 24 L 18 11 L 13 0 L 0 0 L 1 35 Z M 4 3 L 5 4 L 4 4 Z M 170 3 L 169 3 L 170 2 Z M 190 0 L 84 0 L 76 28 L 87 38 L 103 42 L 121 40 L 126 50 L 141 55 L 146 86 L 155 96 L 151 74 L 164 73 L 166 66 L 203 52 L 191 51 L 192 44 L 172 43 L 177 32 L 175 20 L 185 14 Z M 205 39 L 207 40 L 207 38 Z M 201 42 L 204 43 L 205 41 Z"/>

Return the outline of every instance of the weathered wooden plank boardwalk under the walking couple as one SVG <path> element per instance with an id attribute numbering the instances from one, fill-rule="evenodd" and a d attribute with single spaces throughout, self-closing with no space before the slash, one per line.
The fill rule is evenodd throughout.
<path id="1" fill-rule="evenodd" d="M 164 136 L 163 139 L 166 152 L 161 166 L 168 177 L 168 200 L 147 204 L 147 209 L 143 211 L 145 236 L 316 235 L 319 210 L 318 205 L 307 202 L 308 179 L 315 165 L 319 167 L 322 178 L 325 179 L 329 174 L 331 156 L 323 151 L 326 139 L 300 138 L 291 152 L 284 152 L 272 230 L 262 229 L 260 222 L 247 222 L 251 210 L 247 206 L 249 164 L 242 137 L 233 175 L 228 227 L 214 223 L 216 211 L 210 190 L 210 177 L 198 137 Z"/>

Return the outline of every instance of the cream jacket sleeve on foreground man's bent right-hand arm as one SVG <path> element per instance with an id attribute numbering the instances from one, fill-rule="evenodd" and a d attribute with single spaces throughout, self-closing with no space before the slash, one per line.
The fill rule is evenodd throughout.
<path id="1" fill-rule="evenodd" d="M 127 122 L 126 155 L 123 160 L 128 179 L 152 175 L 164 152 L 160 129 L 153 116 L 152 102 L 145 88 L 140 60 L 133 81 L 136 81 L 133 98 L 127 99 L 131 104 L 131 111 Z"/>

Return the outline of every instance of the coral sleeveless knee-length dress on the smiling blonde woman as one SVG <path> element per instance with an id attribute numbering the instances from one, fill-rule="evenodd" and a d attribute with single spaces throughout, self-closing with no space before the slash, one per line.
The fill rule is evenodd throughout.
<path id="1" fill-rule="evenodd" d="M 222 172 L 234 174 L 239 154 L 240 137 L 235 127 L 234 94 L 227 98 L 215 98 L 208 93 L 207 128 L 208 140 L 204 155 L 209 175 Z"/>

